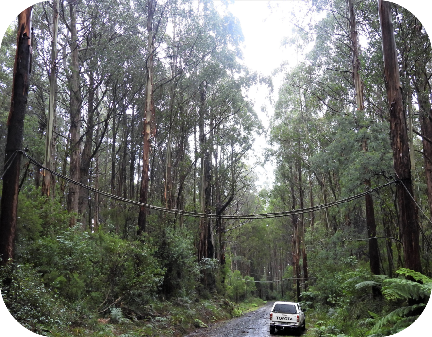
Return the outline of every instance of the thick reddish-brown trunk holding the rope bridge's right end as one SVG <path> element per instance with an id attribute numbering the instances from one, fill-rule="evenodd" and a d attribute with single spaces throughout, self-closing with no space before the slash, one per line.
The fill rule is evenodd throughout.
<path id="1" fill-rule="evenodd" d="M 378 0 L 382 50 L 384 56 L 385 83 L 390 111 L 390 137 L 397 185 L 400 233 L 403 243 L 405 268 L 421 272 L 419 233 L 416 206 L 411 196 L 411 163 L 408 150 L 406 116 L 400 88 L 399 65 L 390 11 L 391 2 Z M 410 196 L 411 194 L 411 196 Z"/>

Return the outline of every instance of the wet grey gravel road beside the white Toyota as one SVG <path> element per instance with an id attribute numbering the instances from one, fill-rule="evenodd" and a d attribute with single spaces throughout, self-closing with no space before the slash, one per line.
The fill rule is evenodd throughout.
<path id="1" fill-rule="evenodd" d="M 293 336 L 289 332 L 279 332 L 270 335 L 269 316 L 274 302 L 268 302 L 253 312 L 248 312 L 241 317 L 210 325 L 205 329 L 198 329 L 186 337 L 270 337 Z"/>

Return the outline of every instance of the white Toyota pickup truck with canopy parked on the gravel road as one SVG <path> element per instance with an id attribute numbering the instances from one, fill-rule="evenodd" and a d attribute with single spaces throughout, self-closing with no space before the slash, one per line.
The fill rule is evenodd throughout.
<path id="1" fill-rule="evenodd" d="M 291 330 L 301 335 L 306 329 L 304 312 L 299 303 L 275 302 L 270 311 L 270 334 L 275 330 Z"/>

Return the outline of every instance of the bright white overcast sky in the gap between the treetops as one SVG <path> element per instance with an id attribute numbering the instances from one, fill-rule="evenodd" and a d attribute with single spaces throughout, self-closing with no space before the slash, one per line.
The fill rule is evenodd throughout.
<path id="1" fill-rule="evenodd" d="M 220 1 L 215 1 L 216 6 L 222 7 Z M 282 46 L 285 37 L 291 34 L 292 24 L 289 22 L 290 12 L 300 13 L 304 8 L 302 0 L 268 1 L 268 0 L 237 0 L 229 4 L 228 10 L 240 20 L 243 35 L 245 37 L 243 45 L 244 64 L 252 71 L 257 71 L 263 75 L 271 75 L 273 71 L 280 67 L 282 62 L 288 62 L 293 66 L 297 62 L 296 51 L 294 48 Z M 279 86 L 282 84 L 282 74 L 273 76 L 274 92 L 272 98 L 277 99 Z M 273 113 L 273 106 L 266 98 L 268 89 L 265 86 L 255 86 L 248 93 L 249 99 L 254 101 L 255 111 L 261 121 L 268 129 L 269 120 Z M 266 112 L 261 111 L 261 107 L 266 106 Z M 256 156 L 262 156 L 263 149 L 266 147 L 265 136 L 262 135 L 255 142 L 253 153 L 250 153 L 249 165 L 256 161 Z M 274 166 L 266 163 L 264 168 L 255 169 L 258 176 L 258 188 L 271 187 L 274 180 Z"/>

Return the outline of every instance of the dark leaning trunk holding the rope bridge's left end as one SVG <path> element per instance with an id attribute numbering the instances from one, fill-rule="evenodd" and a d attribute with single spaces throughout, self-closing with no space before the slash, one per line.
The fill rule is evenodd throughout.
<path id="1" fill-rule="evenodd" d="M 24 117 L 32 60 L 32 9 L 33 6 L 30 6 L 18 15 L 17 51 L 12 80 L 11 109 L 7 121 L 8 133 L 1 196 L 0 255 L 2 264 L 14 258 L 19 169 L 21 167 L 21 154 L 15 151 L 21 150 L 24 133 Z"/>

